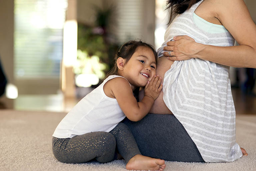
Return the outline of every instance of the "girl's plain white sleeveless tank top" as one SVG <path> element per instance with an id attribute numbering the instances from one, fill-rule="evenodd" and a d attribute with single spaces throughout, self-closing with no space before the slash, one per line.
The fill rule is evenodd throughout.
<path id="1" fill-rule="evenodd" d="M 103 83 L 80 100 L 62 119 L 52 136 L 72 138 L 75 135 L 88 132 L 110 132 L 115 128 L 125 118 L 125 115 L 117 100 L 106 96 L 103 86 L 108 80 L 116 77 L 121 76 L 110 75 Z"/>

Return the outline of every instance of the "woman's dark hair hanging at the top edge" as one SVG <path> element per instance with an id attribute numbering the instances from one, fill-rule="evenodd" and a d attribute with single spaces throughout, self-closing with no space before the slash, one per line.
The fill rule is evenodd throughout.
<path id="1" fill-rule="evenodd" d="M 166 1 L 166 9 L 170 12 L 170 20 L 171 22 L 172 16 L 176 14 L 182 14 L 187 9 L 190 9 L 192 5 L 199 2 L 200 0 L 167 0 Z M 168 24 L 169 24 L 168 23 Z"/>

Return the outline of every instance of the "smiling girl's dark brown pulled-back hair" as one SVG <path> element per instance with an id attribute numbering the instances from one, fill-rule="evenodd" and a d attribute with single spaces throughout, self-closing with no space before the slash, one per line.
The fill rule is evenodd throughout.
<path id="1" fill-rule="evenodd" d="M 147 48 L 151 49 L 152 52 L 154 53 L 155 59 L 157 61 L 157 53 L 155 51 L 155 48 L 152 45 L 150 45 L 148 43 L 144 43 L 140 40 L 139 41 L 130 40 L 129 42 L 126 42 L 125 44 L 123 44 L 116 51 L 115 58 L 114 58 L 114 60 L 115 60 L 114 67 L 107 73 L 105 78 L 107 78 L 110 75 L 119 75 L 116 60 L 119 57 L 121 57 L 121 58 L 125 59 L 126 60 L 125 63 L 127 63 L 131 59 L 132 55 L 136 52 L 138 47 L 147 47 Z"/>

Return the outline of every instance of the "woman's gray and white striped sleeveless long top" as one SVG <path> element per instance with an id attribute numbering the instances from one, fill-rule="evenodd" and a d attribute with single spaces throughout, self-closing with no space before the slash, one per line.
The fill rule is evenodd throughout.
<path id="1" fill-rule="evenodd" d="M 203 1 L 203 0 L 202 0 Z M 196 42 L 233 46 L 229 32 L 208 33 L 193 22 L 198 5 L 178 15 L 165 33 L 163 47 L 174 36 L 188 35 Z M 231 162 L 242 156 L 236 143 L 235 107 L 229 80 L 229 67 L 192 58 L 175 61 L 164 75 L 164 102 L 182 123 L 205 162 Z"/>

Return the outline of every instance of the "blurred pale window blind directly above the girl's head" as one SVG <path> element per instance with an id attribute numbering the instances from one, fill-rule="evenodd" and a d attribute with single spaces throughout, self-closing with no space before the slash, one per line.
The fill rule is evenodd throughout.
<path id="1" fill-rule="evenodd" d="M 120 43 L 141 39 L 154 45 L 155 0 L 115 0 L 116 27 Z"/>

